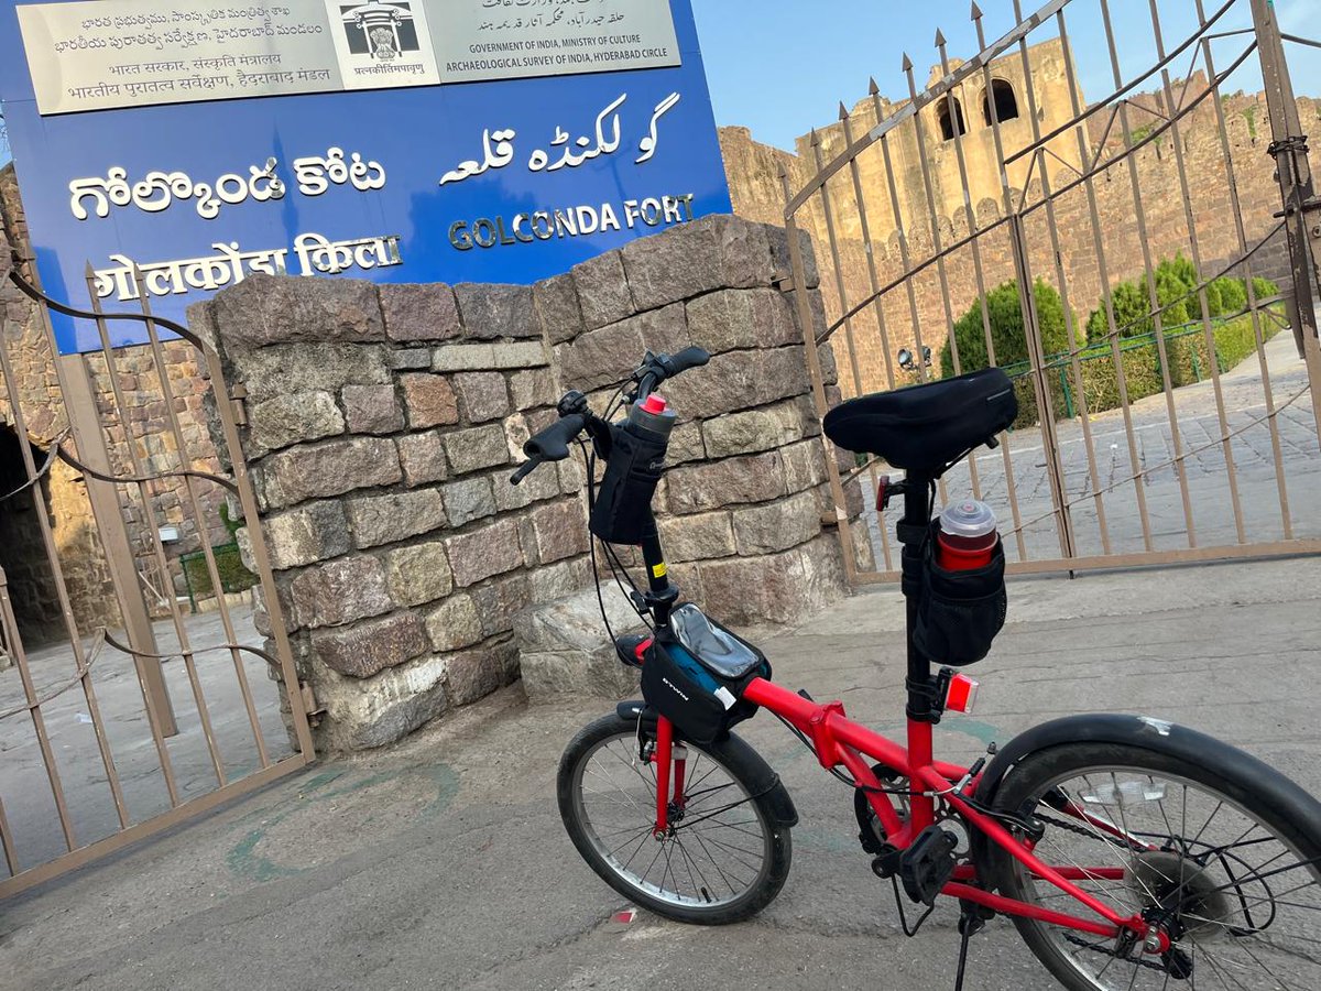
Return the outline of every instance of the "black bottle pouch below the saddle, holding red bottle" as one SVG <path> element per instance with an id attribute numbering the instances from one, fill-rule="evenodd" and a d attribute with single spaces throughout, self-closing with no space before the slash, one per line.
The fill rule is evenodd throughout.
<path id="1" fill-rule="evenodd" d="M 962 667 L 984 658 L 1004 626 L 1009 604 L 1004 544 L 996 542 L 991 563 L 983 568 L 948 571 L 935 562 L 938 530 L 937 521 L 922 559 L 922 599 L 913 641 L 934 663 Z"/>

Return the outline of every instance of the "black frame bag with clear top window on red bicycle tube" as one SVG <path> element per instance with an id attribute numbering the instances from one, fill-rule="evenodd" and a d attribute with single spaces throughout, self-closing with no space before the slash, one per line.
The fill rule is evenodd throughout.
<path id="1" fill-rule="evenodd" d="M 684 610 L 696 617 L 680 616 Z M 756 715 L 757 707 L 742 694 L 754 678 L 770 678 L 770 662 L 752 643 L 701 616 L 696 606 L 682 606 L 675 616 L 678 624 L 658 632 L 643 657 L 642 696 L 674 723 L 680 737 L 712 744 Z"/>

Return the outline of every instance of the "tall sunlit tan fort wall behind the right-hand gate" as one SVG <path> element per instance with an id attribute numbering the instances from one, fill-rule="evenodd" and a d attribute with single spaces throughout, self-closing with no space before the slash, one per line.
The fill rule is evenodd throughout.
<path id="1" fill-rule="evenodd" d="M 1069 87 L 1062 74 L 1063 53 L 1058 50 L 1058 42 L 1046 42 L 1029 52 L 1034 59 L 1033 94 L 1041 112 L 1040 129 L 1042 133 L 1049 133 L 1073 116 Z M 992 63 L 992 75 L 1004 77 L 1022 87 L 1021 77 L 1012 77 L 1001 69 L 1001 63 L 1008 61 L 1001 58 Z M 1017 57 L 1012 61 L 1016 63 Z M 1181 106 L 1188 107 L 1199 100 L 1196 108 L 1180 120 L 1178 141 L 1190 185 L 1189 203 L 1202 254 L 1203 275 L 1213 275 L 1239 254 L 1238 231 L 1230 205 L 1230 169 L 1226 165 L 1225 143 L 1217 116 L 1217 98 L 1214 94 L 1202 98 L 1206 94 L 1206 81 L 1201 75 L 1194 75 L 1186 89 L 1182 81 L 1177 81 L 1173 91 Z M 1025 91 L 1018 89 L 1017 92 L 1024 116 L 1001 127 L 1007 155 L 1026 147 L 1032 140 L 1030 122 L 1025 116 Z M 968 168 L 970 201 L 978 227 L 985 230 L 1004 215 L 1004 201 L 1000 194 L 999 169 L 995 166 L 993 156 L 987 157 L 991 128 L 980 118 L 980 111 L 975 115 L 967 114 L 967 98 L 964 103 L 968 133 L 963 136 L 962 144 Z M 1079 103 L 1083 104 L 1082 94 Z M 1162 92 L 1133 95 L 1129 127 L 1137 139 L 1165 123 L 1168 116 L 1165 103 Z M 875 127 L 878 119 L 889 116 L 902 106 L 904 102 L 890 103 L 881 96 L 857 103 L 847 111 L 855 140 Z M 1256 246 L 1277 226 L 1279 221 L 1273 214 L 1280 209 L 1273 161 L 1266 152 L 1271 140 L 1266 99 L 1262 94 L 1225 94 L 1221 110 L 1225 116 L 1223 136 L 1230 149 L 1230 164 L 1248 244 Z M 1299 112 L 1304 122 L 1317 120 L 1321 115 L 1321 102 L 1301 98 Z M 988 289 L 1013 279 L 1012 247 L 1005 229 L 1001 227 L 978 239 L 976 258 L 971 247 L 950 255 L 945 266 L 945 283 L 935 266 L 926 268 L 908 284 L 902 280 L 905 267 L 901 227 L 911 260 L 919 263 L 934 254 L 935 234 L 939 234 L 945 246 L 950 246 L 968 235 L 974 219 L 963 206 L 954 143 L 941 140 L 935 115 L 937 107 L 929 107 L 922 114 L 926 137 L 923 144 L 937 203 L 934 230 L 917 159 L 918 139 L 913 122 L 900 126 L 889 139 L 900 201 L 898 222 L 890 203 L 889 177 L 881 149 L 873 145 L 857 160 L 873 246 L 871 260 L 876 264 L 881 285 L 896 280 L 898 284 L 886 293 L 882 307 L 889 338 L 888 355 L 882 346 L 875 307 L 860 313 L 849 328 L 841 329 L 835 337 L 840 366 L 845 370 L 841 387 L 849 395 L 888 387 L 886 357 L 893 365 L 898 349 L 911 348 L 918 330 L 922 342 L 939 353 L 948 338 L 950 321 L 958 320 L 976 303 L 979 262 Z M 1103 110 L 1089 119 L 1089 133 L 1085 136 L 1089 156 L 1096 156 L 1100 163 L 1118 160 L 1125 149 L 1119 122 L 1116 120 L 1112 127 L 1108 124 L 1110 111 Z M 1173 132 L 1166 132 L 1133 156 L 1137 188 L 1145 211 L 1144 231 L 1139 229 L 1136 221 L 1133 184 L 1125 161 L 1118 160 L 1115 165 L 1099 172 L 1092 182 L 1111 285 L 1144 274 L 1144 242 L 1151 250 L 1153 264 L 1164 258 L 1172 258 L 1178 251 L 1192 256 L 1188 211 L 1180 190 L 1173 140 Z M 721 149 L 734 211 L 764 222 L 783 222 L 783 185 L 778 177 L 781 169 L 789 173 L 790 186 L 797 193 L 816 173 L 818 155 L 828 163 L 844 147 L 843 126 L 839 122 L 831 122 L 801 137 L 794 153 L 758 144 L 746 128 L 721 128 Z M 1053 139 L 1050 147 L 1053 155 L 1048 159 L 1048 173 L 1052 189 L 1058 190 L 1065 182 L 1077 178 L 1077 172 L 1066 164 L 1079 161 L 1075 132 L 1067 131 Z M 1015 189 L 1021 190 L 1025 174 L 1011 170 Z M 835 266 L 830 262 L 831 248 L 820 196 L 815 196 L 802 209 L 798 221 L 802 229 L 812 235 L 816 254 L 823 259 L 822 288 L 827 312 L 834 321 L 844 312 L 844 307 L 840 305 L 841 299 L 847 300 L 849 307 L 856 305 L 872 293 L 872 281 L 869 255 L 861 240 L 863 210 L 859 209 L 849 169 L 843 169 L 830 180 L 827 188 L 836 230 L 840 279 L 836 279 Z M 1042 184 L 1038 172 L 1029 185 L 1026 202 L 1037 203 L 1041 200 Z M 1100 304 L 1107 288 L 1102 284 L 1086 190 L 1079 186 L 1057 197 L 1054 213 L 1058 256 L 1046 211 L 1037 209 L 1026 219 L 1029 263 L 1036 276 L 1062 291 L 1078 324 L 1083 324 L 1091 311 Z M 1283 234 L 1272 237 L 1269 243 L 1254 255 L 1251 266 L 1254 275 L 1263 275 L 1288 288 L 1289 267 Z M 917 320 L 909 307 L 906 292 L 909 284 L 915 296 Z M 853 341 L 852 348 L 848 346 L 849 337 Z M 852 358 L 857 361 L 856 382 L 852 374 Z M 900 378 L 901 385 L 905 381 L 906 377 Z"/>

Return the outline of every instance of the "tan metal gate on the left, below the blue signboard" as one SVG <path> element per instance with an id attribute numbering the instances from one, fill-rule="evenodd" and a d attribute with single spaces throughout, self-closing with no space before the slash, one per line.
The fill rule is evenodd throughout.
<path id="1" fill-rule="evenodd" d="M 248 530 L 247 564 L 264 646 L 213 550 L 230 514 L 256 519 L 219 358 L 153 318 L 147 292 L 137 313 L 102 313 L 89 267 L 92 303 L 75 309 L 29 266 L 16 248 L 9 313 L 30 301 L 30 318 L 0 299 L 0 897 L 314 758 L 262 534 Z M 50 311 L 94 324 L 102 349 L 59 357 Z M 122 321 L 149 344 L 114 348 Z M 206 614 L 176 592 L 170 548 L 189 546 Z"/>

